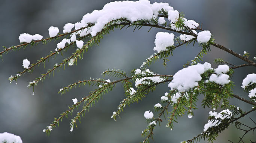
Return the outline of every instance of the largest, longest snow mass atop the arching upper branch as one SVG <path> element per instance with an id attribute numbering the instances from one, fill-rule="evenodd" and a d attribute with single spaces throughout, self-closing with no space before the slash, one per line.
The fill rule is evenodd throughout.
<path id="1" fill-rule="evenodd" d="M 111 20 L 127 18 L 134 22 L 138 19 L 149 20 L 153 16 L 150 1 L 115 1 L 106 4 L 102 10 L 94 10 L 92 13 L 87 13 L 83 16 L 85 23 L 94 23 L 92 26 L 91 35 L 95 36 L 97 32 L 103 29 L 104 25 Z"/>

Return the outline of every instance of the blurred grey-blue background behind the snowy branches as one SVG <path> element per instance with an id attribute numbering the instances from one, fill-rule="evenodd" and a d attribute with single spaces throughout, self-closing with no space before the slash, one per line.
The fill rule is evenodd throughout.
<path id="1" fill-rule="evenodd" d="M 56 26 L 63 31 L 65 23 L 80 22 L 82 16 L 91 13 L 93 10 L 100 10 L 112 0 L 1 0 L 0 1 L 0 45 L 11 47 L 19 45 L 19 35 L 28 33 L 31 35 L 40 34 L 44 38 L 49 37 L 48 29 Z M 174 7 L 174 10 L 184 12 L 185 18 L 203 23 L 202 28 L 209 30 L 214 35 L 218 44 L 224 45 L 231 50 L 243 55 L 244 51 L 250 53 L 250 59 L 256 54 L 255 32 L 256 32 L 256 1 L 233 1 L 233 0 L 151 0 L 150 3 L 165 2 Z M 166 19 L 167 20 L 167 19 Z M 155 51 L 154 40 L 157 32 L 170 32 L 162 29 L 143 27 L 139 31 L 133 32 L 132 28 L 127 30 L 115 29 L 110 35 L 101 39 L 100 46 L 93 46 L 83 55 L 83 60 L 78 60 L 77 66 L 66 66 L 65 70 L 55 71 L 54 77 L 46 77 L 43 84 L 41 82 L 33 89 L 28 89 L 27 85 L 41 74 L 46 73 L 47 69 L 52 69 L 54 64 L 60 63 L 73 53 L 76 48 L 70 48 L 63 56 L 57 55 L 56 59 L 49 58 L 49 62 L 34 68 L 32 74 L 26 73 L 18 79 L 18 85 L 10 82 L 8 78 L 15 75 L 18 71 L 23 71 L 22 60 L 28 59 L 30 64 L 36 63 L 40 57 L 49 55 L 49 51 L 54 51 L 59 41 L 51 41 L 47 45 L 39 43 L 36 47 L 27 46 L 25 50 L 12 51 L 3 54 L 3 61 L 0 61 L 0 133 L 8 132 L 18 135 L 23 143 L 139 143 L 141 131 L 147 128 L 146 119 L 143 117 L 145 111 L 153 111 L 153 106 L 160 103 L 161 96 L 168 92 L 168 84 L 158 86 L 153 93 L 149 93 L 139 101 L 138 104 L 130 104 L 120 114 L 120 118 L 114 121 L 110 117 L 113 111 L 117 111 L 120 101 L 125 98 L 124 89 L 121 84 L 117 84 L 113 92 L 103 96 L 95 107 L 86 112 L 86 116 L 81 119 L 82 124 L 78 123 L 78 128 L 70 132 L 70 120 L 76 112 L 80 112 L 81 107 L 72 116 L 64 118 L 60 122 L 60 127 L 54 128 L 50 136 L 43 133 L 43 129 L 54 121 L 54 117 L 68 107 L 73 105 L 71 99 L 78 100 L 88 96 L 90 91 L 96 87 L 82 87 L 71 89 L 65 95 L 58 94 L 59 89 L 78 80 L 88 80 L 91 78 L 103 78 L 101 73 L 104 70 L 122 69 L 129 73 L 132 69 L 137 69 Z M 174 33 L 175 36 L 179 34 Z M 174 75 L 183 68 L 183 64 L 199 53 L 201 47 L 192 44 L 188 47 L 177 48 L 173 56 L 169 57 L 167 68 L 162 66 L 162 60 L 149 67 L 150 70 L 158 74 Z M 211 52 L 204 55 L 203 62 L 213 65 L 214 58 L 223 58 L 229 63 L 240 65 L 246 64 L 244 61 L 232 56 L 216 47 L 211 47 Z M 216 65 L 213 65 L 216 68 Z M 234 93 L 247 100 L 248 94 L 243 92 L 241 83 L 247 74 L 255 73 L 255 67 L 243 67 L 235 69 L 232 81 L 235 82 Z M 110 79 L 112 77 L 104 77 Z M 116 80 L 116 79 L 115 79 Z M 163 119 L 161 127 L 156 126 L 154 130 L 155 142 L 180 143 L 192 139 L 200 134 L 204 125 L 208 123 L 208 112 L 212 109 L 202 109 L 200 96 L 195 116 L 191 119 L 187 114 L 179 117 L 179 123 L 174 123 L 174 128 L 165 128 L 167 120 Z M 80 101 L 80 100 L 79 100 Z M 230 104 L 240 107 L 243 111 L 252 109 L 252 105 L 244 104 L 237 99 L 230 99 Z M 171 111 L 171 107 L 169 107 Z M 221 109 L 217 109 L 220 112 Z M 155 113 L 153 111 L 155 115 Z M 241 121 L 246 125 L 254 127 L 251 117 L 256 121 L 256 114 L 251 113 Z M 246 129 L 246 128 L 244 128 Z M 223 131 L 217 137 L 215 143 L 223 143 L 231 140 L 238 142 L 239 137 L 243 136 L 243 131 L 238 130 L 231 124 L 228 130 Z M 252 132 L 248 133 L 244 141 L 256 139 Z M 255 141 L 255 140 L 254 140 Z M 151 141 L 154 142 L 154 141 Z M 207 142 L 202 140 L 201 142 Z"/>

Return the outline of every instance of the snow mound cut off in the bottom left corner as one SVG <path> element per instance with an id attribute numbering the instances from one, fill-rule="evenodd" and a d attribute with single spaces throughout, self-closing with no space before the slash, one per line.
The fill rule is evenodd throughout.
<path id="1" fill-rule="evenodd" d="M 7 143 L 22 143 L 21 137 L 11 133 L 0 133 L 0 143 L 6 141 Z"/>

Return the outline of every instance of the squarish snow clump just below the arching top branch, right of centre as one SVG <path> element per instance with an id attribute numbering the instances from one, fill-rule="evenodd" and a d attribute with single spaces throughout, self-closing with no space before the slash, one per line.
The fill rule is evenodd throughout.
<path id="1" fill-rule="evenodd" d="M 174 34 L 169 34 L 167 32 L 158 32 L 156 34 L 155 44 L 156 47 L 154 47 L 154 50 L 157 52 L 160 52 L 162 50 L 165 50 L 165 47 L 172 46 L 174 44 L 173 41 Z"/>

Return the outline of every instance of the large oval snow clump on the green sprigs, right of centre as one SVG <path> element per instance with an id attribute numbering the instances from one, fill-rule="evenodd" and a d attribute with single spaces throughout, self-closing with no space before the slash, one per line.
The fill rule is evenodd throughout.
<path id="1" fill-rule="evenodd" d="M 204 65 L 198 63 L 179 70 L 174 74 L 173 80 L 169 83 L 168 87 L 171 90 L 178 89 L 180 92 L 185 92 L 195 86 L 202 79 L 201 74 L 205 71 Z"/>

